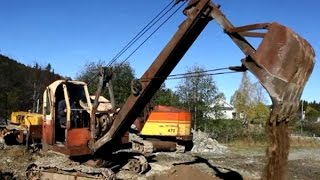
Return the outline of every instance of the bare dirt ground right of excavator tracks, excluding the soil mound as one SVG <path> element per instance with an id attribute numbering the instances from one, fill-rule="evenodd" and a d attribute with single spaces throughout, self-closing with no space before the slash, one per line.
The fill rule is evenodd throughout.
<path id="1" fill-rule="evenodd" d="M 162 180 L 165 177 L 173 179 L 203 179 L 207 176 L 196 178 L 194 171 L 183 170 L 177 166 L 186 165 L 188 168 L 196 168 L 199 173 L 205 173 L 211 179 L 261 179 L 261 173 L 266 163 L 264 148 L 230 148 L 225 154 L 170 154 L 157 153 L 154 162 L 151 162 L 153 170 L 144 177 L 136 176 L 136 179 Z M 182 170 L 181 170 L 182 169 Z M 184 168 L 185 169 L 185 168 Z M 185 172 L 185 173 L 183 173 Z M 190 172 L 190 173 L 188 173 Z M 168 175 L 169 174 L 169 175 Z M 120 177 L 120 176 L 118 176 Z M 126 179 L 125 177 L 120 177 Z M 320 149 L 317 148 L 293 148 L 289 155 L 288 179 L 314 180 L 320 179 Z"/>

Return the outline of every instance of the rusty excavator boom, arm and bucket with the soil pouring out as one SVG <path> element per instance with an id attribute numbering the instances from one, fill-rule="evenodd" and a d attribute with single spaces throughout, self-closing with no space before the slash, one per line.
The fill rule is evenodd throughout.
<path id="1" fill-rule="evenodd" d="M 269 163 L 264 177 L 286 179 L 288 121 L 298 109 L 304 86 L 312 72 L 314 50 L 306 40 L 278 23 L 234 27 L 219 8 L 211 0 L 189 0 L 184 10 L 186 20 L 140 80 L 133 81 L 132 95 L 117 114 L 110 130 L 90 143 L 93 151 L 110 149 L 112 142 L 125 134 L 209 21 L 215 19 L 245 54 L 242 65 L 230 69 L 249 70 L 271 97 L 272 111 L 267 122 Z M 263 38 L 257 50 L 245 39 L 246 36 Z"/>

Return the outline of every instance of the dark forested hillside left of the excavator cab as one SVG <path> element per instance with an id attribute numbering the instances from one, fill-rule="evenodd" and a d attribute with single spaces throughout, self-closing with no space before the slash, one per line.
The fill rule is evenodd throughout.
<path id="1" fill-rule="evenodd" d="M 60 78 L 50 64 L 30 67 L 0 55 L 0 119 L 9 119 L 13 111 L 36 112 L 45 87 Z"/>

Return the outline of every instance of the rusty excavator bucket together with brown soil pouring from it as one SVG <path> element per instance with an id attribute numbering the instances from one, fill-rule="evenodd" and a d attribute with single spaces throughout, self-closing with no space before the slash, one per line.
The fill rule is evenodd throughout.
<path id="1" fill-rule="evenodd" d="M 272 100 L 267 122 L 269 147 L 266 179 L 287 179 L 289 151 L 288 121 L 299 108 L 304 86 L 315 63 L 311 45 L 289 28 L 278 23 L 267 26 L 268 32 L 252 57 L 242 63 L 265 87 Z"/>

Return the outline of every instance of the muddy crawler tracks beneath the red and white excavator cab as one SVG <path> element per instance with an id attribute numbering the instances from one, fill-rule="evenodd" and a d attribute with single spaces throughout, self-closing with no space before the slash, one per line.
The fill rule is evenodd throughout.
<path id="1" fill-rule="evenodd" d="M 121 154 L 119 156 L 121 156 Z M 88 163 L 89 161 L 91 163 Z M 79 163 L 77 161 L 70 160 L 68 156 L 63 154 L 48 153 L 29 165 L 26 171 L 26 176 L 27 179 L 31 180 L 116 179 L 116 175 L 111 168 L 101 167 L 101 164 L 107 163 L 96 163 L 103 162 L 104 160 L 89 161 L 87 161 L 87 163 Z M 119 159 L 119 161 L 121 160 Z M 117 166 L 118 165 L 114 165 L 112 168 Z M 148 161 L 143 155 L 132 156 L 128 159 L 127 163 L 122 165 L 120 168 L 120 170 L 123 171 L 131 171 L 140 174 L 145 173 L 148 169 Z"/>

